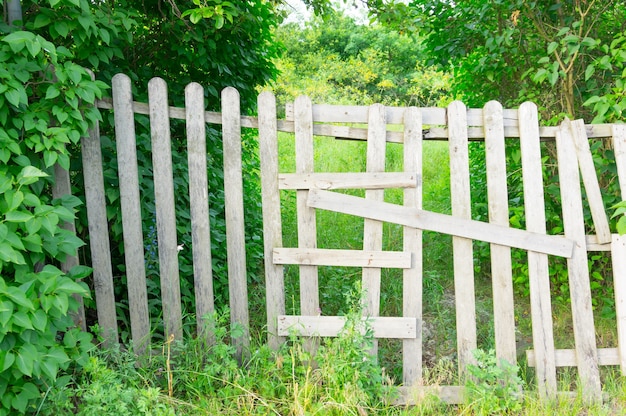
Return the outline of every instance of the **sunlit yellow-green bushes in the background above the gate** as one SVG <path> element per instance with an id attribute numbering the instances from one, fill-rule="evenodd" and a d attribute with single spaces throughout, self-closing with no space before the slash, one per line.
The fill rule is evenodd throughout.
<path id="1" fill-rule="evenodd" d="M 338 12 L 306 27 L 282 25 L 285 44 L 274 87 L 280 103 L 298 95 L 328 104 L 437 105 L 449 101 L 448 77 L 425 67 L 419 37 L 358 25 Z"/>

